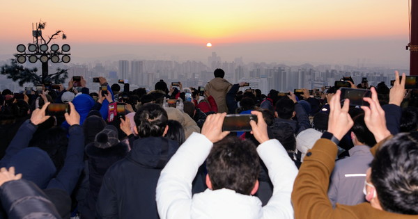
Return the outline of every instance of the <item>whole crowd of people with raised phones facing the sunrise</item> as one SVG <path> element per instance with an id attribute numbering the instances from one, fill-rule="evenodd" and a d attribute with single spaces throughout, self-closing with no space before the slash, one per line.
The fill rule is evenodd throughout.
<path id="1" fill-rule="evenodd" d="M 417 218 L 418 93 L 369 86 L 129 90 L 98 78 L 0 95 L 3 218 Z M 241 89 L 240 89 L 241 88 Z M 59 108 L 64 106 L 64 108 Z M 225 131 L 227 114 L 253 115 Z"/>

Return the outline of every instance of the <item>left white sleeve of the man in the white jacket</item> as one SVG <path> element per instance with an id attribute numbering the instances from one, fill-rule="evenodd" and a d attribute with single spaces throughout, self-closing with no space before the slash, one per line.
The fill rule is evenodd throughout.
<path id="1" fill-rule="evenodd" d="M 192 133 L 181 145 L 158 179 L 155 199 L 160 218 L 187 218 L 192 205 L 192 181 L 213 144 L 200 133 Z"/>

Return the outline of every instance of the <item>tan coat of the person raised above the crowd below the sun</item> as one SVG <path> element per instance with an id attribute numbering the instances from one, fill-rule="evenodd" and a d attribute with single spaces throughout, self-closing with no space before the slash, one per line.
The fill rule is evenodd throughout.
<path id="1" fill-rule="evenodd" d="M 205 90 L 208 90 L 217 104 L 218 113 L 228 113 L 228 106 L 226 106 L 226 93 L 231 89 L 232 84 L 226 79 L 215 78 L 206 84 Z"/>

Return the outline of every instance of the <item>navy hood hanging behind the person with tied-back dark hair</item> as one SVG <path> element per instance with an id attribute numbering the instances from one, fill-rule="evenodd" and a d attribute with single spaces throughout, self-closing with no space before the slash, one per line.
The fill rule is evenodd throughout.
<path id="1" fill-rule="evenodd" d="M 167 143 L 167 144 L 166 144 Z M 168 145 L 164 150 L 164 145 Z M 176 153 L 179 145 L 175 140 L 164 137 L 139 138 L 127 154 L 126 159 L 138 163 L 146 168 L 160 169 Z"/>

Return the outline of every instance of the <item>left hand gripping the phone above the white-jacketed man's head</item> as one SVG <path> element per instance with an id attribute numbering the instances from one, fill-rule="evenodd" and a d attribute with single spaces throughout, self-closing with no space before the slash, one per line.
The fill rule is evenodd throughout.
<path id="1" fill-rule="evenodd" d="M 228 136 L 229 131 L 222 131 L 222 124 L 226 113 L 211 114 L 206 117 L 201 133 L 212 143 L 216 143 Z"/>

